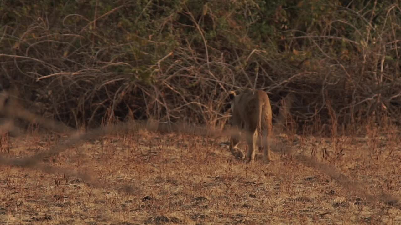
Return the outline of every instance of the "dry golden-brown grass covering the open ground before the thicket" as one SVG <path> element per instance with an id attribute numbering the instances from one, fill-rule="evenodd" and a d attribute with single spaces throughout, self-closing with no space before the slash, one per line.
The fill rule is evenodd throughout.
<path id="1" fill-rule="evenodd" d="M 108 135 L 46 157 L 41 170 L 1 165 L 0 223 L 399 224 L 397 203 L 377 201 L 383 192 L 400 195 L 395 137 L 341 137 L 335 145 L 278 137 L 292 155 L 276 152 L 269 164 L 247 165 L 220 144 L 227 137 Z M 3 135 L 1 154 L 34 155 L 56 142 L 51 135 Z M 340 176 L 300 162 L 295 153 Z M 346 180 L 359 182 L 363 192 Z"/>

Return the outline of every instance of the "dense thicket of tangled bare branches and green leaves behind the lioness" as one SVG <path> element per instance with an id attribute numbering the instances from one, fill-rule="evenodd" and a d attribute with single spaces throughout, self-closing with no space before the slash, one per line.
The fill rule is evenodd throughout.
<path id="1" fill-rule="evenodd" d="M 2 1 L 0 83 L 72 126 L 220 126 L 256 87 L 298 128 L 357 127 L 399 119 L 400 37 L 399 0 Z"/>

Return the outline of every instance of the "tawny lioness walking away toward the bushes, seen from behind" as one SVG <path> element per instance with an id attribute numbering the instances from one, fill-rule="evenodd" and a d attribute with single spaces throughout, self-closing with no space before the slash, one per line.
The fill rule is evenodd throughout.
<path id="1" fill-rule="evenodd" d="M 236 95 L 234 91 L 230 91 L 229 98 L 233 113 L 232 127 L 247 132 L 246 139 L 248 144 L 247 155 L 244 158 L 243 153 L 237 147 L 239 137 L 237 135 L 231 136 L 231 153 L 235 157 L 253 163 L 257 137 L 258 135 L 259 137 L 263 135 L 263 138 L 259 139 L 258 144 L 260 145 L 260 142 L 263 141 L 263 158 L 270 161 L 270 143 L 268 139 L 272 135 L 271 106 L 266 92 L 263 90 L 248 90 Z M 235 149 L 237 151 L 234 151 Z"/>

